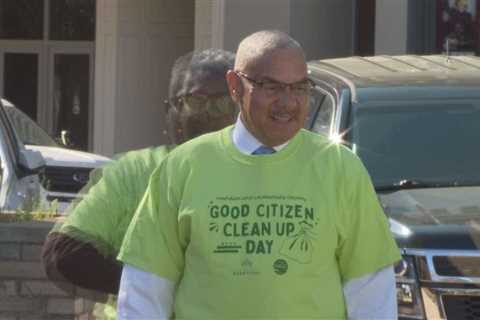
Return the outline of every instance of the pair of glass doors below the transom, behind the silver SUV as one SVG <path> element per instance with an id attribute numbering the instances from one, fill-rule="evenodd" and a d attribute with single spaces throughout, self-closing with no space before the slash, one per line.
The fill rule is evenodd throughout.
<path id="1" fill-rule="evenodd" d="M 0 48 L 0 96 L 68 147 L 89 150 L 92 142 L 93 47 L 15 43 Z M 45 58 L 48 56 L 48 58 Z"/>

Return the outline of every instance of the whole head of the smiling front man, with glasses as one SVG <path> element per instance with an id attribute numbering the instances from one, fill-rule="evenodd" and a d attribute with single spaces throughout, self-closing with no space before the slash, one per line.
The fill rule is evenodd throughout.
<path id="1" fill-rule="evenodd" d="M 242 40 L 227 82 L 240 120 L 264 146 L 286 143 L 303 127 L 310 92 L 307 64 L 302 47 L 289 35 L 260 31 Z"/>

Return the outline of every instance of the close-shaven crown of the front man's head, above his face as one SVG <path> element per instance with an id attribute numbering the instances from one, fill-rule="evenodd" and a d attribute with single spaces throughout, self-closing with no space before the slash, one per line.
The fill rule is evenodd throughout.
<path id="1" fill-rule="evenodd" d="M 300 44 L 288 34 L 278 30 L 258 31 L 240 42 L 235 58 L 235 70 L 258 70 L 262 60 L 279 49 L 298 50 L 304 56 Z"/>

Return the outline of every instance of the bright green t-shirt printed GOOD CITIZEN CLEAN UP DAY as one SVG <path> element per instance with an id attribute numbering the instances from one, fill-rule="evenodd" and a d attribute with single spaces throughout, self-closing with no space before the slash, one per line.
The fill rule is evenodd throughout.
<path id="1" fill-rule="evenodd" d="M 170 153 L 119 258 L 178 283 L 178 319 L 342 319 L 342 284 L 400 259 L 370 178 L 301 130 L 250 156 L 232 127 Z"/>

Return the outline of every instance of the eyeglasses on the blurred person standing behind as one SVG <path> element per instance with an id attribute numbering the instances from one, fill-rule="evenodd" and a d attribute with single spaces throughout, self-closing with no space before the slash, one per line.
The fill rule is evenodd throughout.
<path id="1" fill-rule="evenodd" d="M 221 93 L 216 95 L 186 94 L 177 97 L 172 106 L 182 113 L 207 112 L 212 115 L 235 115 L 237 106 L 230 95 Z"/>

